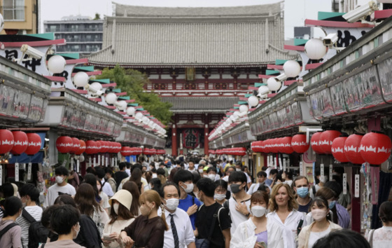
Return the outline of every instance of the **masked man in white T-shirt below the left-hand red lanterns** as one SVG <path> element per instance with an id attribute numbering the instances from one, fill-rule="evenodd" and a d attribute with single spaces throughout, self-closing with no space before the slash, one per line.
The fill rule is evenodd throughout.
<path id="1" fill-rule="evenodd" d="M 66 167 L 60 166 L 57 167 L 55 170 L 55 175 L 56 175 L 56 184 L 50 186 L 48 188 L 48 193 L 46 193 L 46 198 L 45 198 L 45 203 L 44 207 L 50 207 L 55 203 L 55 200 L 57 196 L 59 195 L 75 195 L 76 191 L 75 188 L 66 182 L 66 178 L 69 175 L 68 170 L 66 170 Z"/>

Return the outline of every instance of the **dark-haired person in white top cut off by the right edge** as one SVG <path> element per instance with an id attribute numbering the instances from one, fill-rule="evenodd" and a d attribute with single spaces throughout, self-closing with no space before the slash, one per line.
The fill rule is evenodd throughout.
<path id="1" fill-rule="evenodd" d="M 392 202 L 382 202 L 379 207 L 379 218 L 382 227 L 374 230 L 372 237 L 372 247 L 391 247 L 392 242 Z"/>

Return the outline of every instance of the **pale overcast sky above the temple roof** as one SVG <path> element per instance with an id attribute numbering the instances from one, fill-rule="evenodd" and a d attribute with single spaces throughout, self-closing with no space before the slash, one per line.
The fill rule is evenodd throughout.
<path id="1" fill-rule="evenodd" d="M 41 1 L 41 30 L 44 20 L 61 20 L 68 15 L 87 15 L 94 17 L 99 13 L 112 15 L 112 0 L 40 0 Z M 161 7 L 218 7 L 218 6 L 247 6 L 256 4 L 271 4 L 281 0 L 116 0 L 119 4 L 136 6 L 161 6 Z M 330 6 L 330 0 L 286 0 L 286 26 L 293 29 L 294 25 L 303 25 L 305 18 L 317 18 L 317 11 L 328 11 L 325 6 Z M 290 26 L 289 26 L 290 24 Z M 301 25 L 302 24 L 302 25 Z M 285 32 L 290 38 L 291 32 Z"/>

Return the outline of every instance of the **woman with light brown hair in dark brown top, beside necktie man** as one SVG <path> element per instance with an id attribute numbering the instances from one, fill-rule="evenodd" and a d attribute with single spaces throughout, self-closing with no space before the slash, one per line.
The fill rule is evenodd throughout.
<path id="1" fill-rule="evenodd" d="M 127 247 L 162 248 L 165 230 L 165 207 L 157 191 L 146 191 L 139 198 L 141 215 L 120 233 L 120 241 Z M 162 215 L 158 216 L 158 208 Z"/>

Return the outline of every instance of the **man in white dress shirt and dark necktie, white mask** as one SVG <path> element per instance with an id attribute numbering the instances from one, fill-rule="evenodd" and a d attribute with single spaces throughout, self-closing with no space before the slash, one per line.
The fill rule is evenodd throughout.
<path id="1" fill-rule="evenodd" d="M 188 214 L 179 209 L 180 189 L 167 182 L 160 189 L 160 197 L 165 205 L 165 216 L 169 230 L 165 230 L 163 247 L 196 248 L 195 235 Z M 178 241 L 177 241 L 178 240 Z"/>

